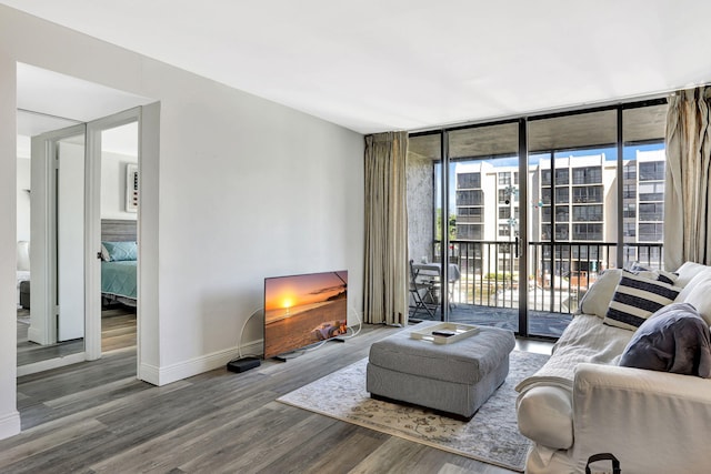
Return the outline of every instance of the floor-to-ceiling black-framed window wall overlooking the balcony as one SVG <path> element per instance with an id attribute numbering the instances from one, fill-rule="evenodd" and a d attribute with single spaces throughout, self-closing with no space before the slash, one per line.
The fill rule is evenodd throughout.
<path id="1" fill-rule="evenodd" d="M 441 278 L 438 311 L 417 317 L 555 337 L 600 272 L 659 268 L 665 109 L 658 100 L 412 134 L 408 178 L 427 167 L 431 186 L 422 177 L 409 186 L 410 253 Z M 413 225 L 422 212 L 431 224 Z"/>

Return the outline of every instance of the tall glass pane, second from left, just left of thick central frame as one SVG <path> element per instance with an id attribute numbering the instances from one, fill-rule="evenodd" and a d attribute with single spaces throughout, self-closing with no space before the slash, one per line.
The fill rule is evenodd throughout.
<path id="1" fill-rule="evenodd" d="M 518 331 L 518 123 L 449 133 L 450 209 L 454 221 L 450 266 L 450 321 Z"/>

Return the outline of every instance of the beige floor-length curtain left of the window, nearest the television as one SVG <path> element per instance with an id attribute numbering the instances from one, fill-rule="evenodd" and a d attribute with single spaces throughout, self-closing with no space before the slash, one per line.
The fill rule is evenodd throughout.
<path id="1" fill-rule="evenodd" d="M 365 137 L 363 320 L 408 322 L 407 132 Z"/>

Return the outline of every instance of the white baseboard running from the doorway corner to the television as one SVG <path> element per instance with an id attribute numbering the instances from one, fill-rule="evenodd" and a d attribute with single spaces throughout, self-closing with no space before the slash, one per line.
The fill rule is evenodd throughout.
<path id="1" fill-rule="evenodd" d="M 261 350 L 262 340 L 252 341 L 249 344 L 242 344 L 243 356 L 253 353 L 261 353 Z M 140 364 L 138 377 L 150 384 L 162 386 L 203 372 L 223 367 L 229 361 L 237 357 L 239 353 L 239 347 L 230 347 L 164 367 Z"/>

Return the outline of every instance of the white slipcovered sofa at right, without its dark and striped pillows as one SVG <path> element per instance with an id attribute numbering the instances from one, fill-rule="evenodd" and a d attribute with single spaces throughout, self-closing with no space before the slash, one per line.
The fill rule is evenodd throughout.
<path id="1" fill-rule="evenodd" d="M 630 474 L 711 472 L 711 379 L 618 365 L 634 331 L 603 320 L 621 273 L 601 275 L 549 362 L 517 387 L 519 430 L 533 442 L 527 473 L 582 473 L 597 453 Z M 675 273 L 674 301 L 711 324 L 711 268 Z"/>

